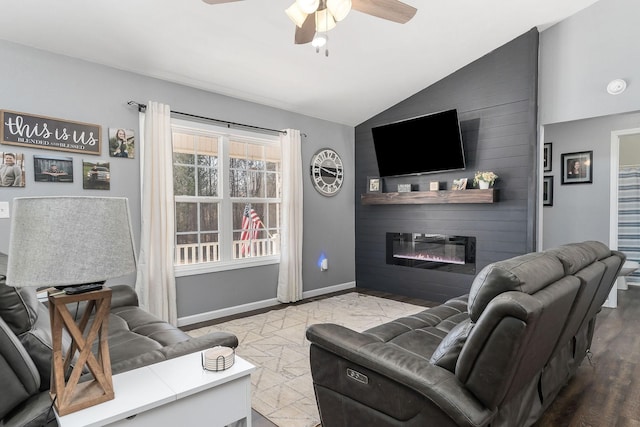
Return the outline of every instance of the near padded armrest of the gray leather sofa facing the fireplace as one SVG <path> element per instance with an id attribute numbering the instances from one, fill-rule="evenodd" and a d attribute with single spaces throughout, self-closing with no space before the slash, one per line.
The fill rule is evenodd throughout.
<path id="1" fill-rule="evenodd" d="M 433 419 L 438 419 L 444 413 L 452 421 L 451 425 L 479 426 L 486 425 L 493 416 L 493 412 L 484 407 L 453 373 L 431 364 L 428 357 L 421 357 L 336 324 L 311 325 L 307 328 L 306 337 L 312 345 L 349 361 L 350 366 L 360 365 L 421 394 L 431 402 L 429 407 L 433 408 Z M 325 359 L 322 363 L 326 362 Z M 313 359 L 311 366 L 313 374 Z M 324 381 L 315 375 L 313 380 L 314 383 L 316 380 Z M 331 381 L 329 378 L 329 382 Z M 347 391 L 346 388 L 340 390 L 340 384 L 326 386 L 337 392 Z M 389 394 L 381 391 L 380 395 Z"/>

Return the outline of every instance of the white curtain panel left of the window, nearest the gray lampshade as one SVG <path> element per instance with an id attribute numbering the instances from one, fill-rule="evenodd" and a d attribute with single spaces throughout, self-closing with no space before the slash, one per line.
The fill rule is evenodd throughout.
<path id="1" fill-rule="evenodd" d="M 177 325 L 171 109 L 149 101 L 140 116 L 142 229 L 136 291 L 142 307 Z"/>

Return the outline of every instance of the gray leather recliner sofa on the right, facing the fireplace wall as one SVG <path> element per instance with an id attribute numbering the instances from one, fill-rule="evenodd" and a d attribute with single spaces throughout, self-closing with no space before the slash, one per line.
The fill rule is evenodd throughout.
<path id="1" fill-rule="evenodd" d="M 624 261 L 567 244 L 490 264 L 468 295 L 362 333 L 310 326 L 322 426 L 532 425 L 589 353 Z"/>

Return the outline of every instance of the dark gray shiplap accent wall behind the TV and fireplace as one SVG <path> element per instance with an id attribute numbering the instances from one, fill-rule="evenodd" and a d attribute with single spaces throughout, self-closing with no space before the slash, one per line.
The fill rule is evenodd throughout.
<path id="1" fill-rule="evenodd" d="M 433 59 L 437 61 L 437 58 Z M 431 301 L 469 291 L 474 276 L 387 265 L 386 232 L 475 236 L 476 272 L 487 264 L 535 248 L 537 175 L 538 31 L 532 29 L 356 127 L 356 283 L 358 287 Z M 398 78 L 402 78 L 401 71 Z M 390 83 L 393 84 L 393 83 Z M 456 108 L 465 145 L 465 171 L 395 177 L 384 191 L 411 183 L 420 191 L 429 181 L 451 188 L 455 178 L 473 181 L 476 170 L 500 177 L 493 204 L 362 205 L 367 176 L 378 174 L 371 128 L 397 120 Z M 420 147 L 407 156 L 437 155 Z M 441 185 L 443 185 L 441 184 Z M 442 187 L 441 187 L 442 188 Z"/>

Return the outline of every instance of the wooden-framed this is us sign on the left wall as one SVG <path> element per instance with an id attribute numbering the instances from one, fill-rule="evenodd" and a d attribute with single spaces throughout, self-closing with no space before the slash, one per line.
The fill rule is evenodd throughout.
<path id="1" fill-rule="evenodd" d="M 3 144 L 100 155 L 100 125 L 7 110 L 0 110 L 0 120 Z"/>

